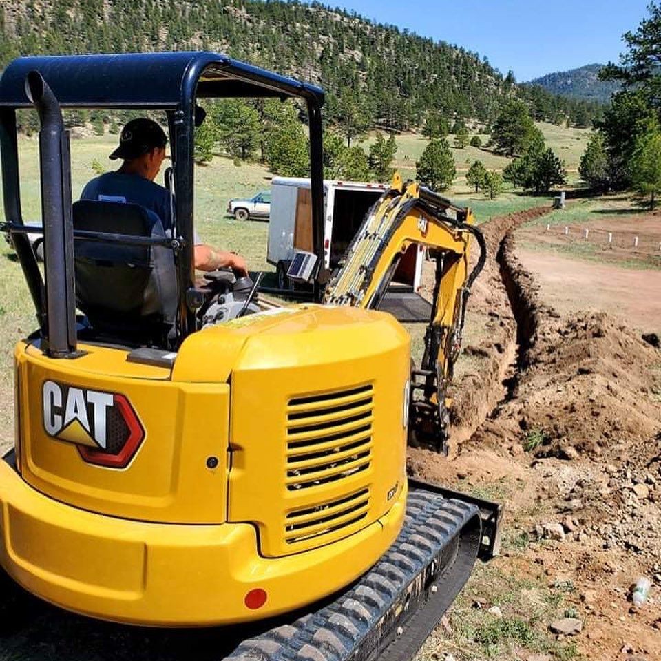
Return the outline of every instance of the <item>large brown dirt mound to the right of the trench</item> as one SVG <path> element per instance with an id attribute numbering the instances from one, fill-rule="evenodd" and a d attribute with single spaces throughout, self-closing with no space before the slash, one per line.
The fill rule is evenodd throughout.
<path id="1" fill-rule="evenodd" d="M 501 417 L 516 417 L 529 442 L 540 443 L 537 454 L 572 447 L 597 456 L 620 441 L 648 441 L 661 429 L 661 379 L 649 370 L 660 360 L 605 313 L 545 322 Z"/>

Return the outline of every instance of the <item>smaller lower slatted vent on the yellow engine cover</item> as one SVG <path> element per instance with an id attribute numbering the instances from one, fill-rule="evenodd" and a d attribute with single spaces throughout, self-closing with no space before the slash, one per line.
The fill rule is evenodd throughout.
<path id="1" fill-rule="evenodd" d="M 370 490 L 366 487 L 335 501 L 294 510 L 287 514 L 285 541 L 295 544 L 344 531 L 367 516 L 369 504 Z"/>

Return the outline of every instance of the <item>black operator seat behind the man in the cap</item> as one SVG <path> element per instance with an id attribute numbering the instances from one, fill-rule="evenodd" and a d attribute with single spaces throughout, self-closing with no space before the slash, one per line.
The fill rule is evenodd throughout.
<path id="1" fill-rule="evenodd" d="M 156 213 L 139 204 L 81 200 L 74 231 L 166 238 Z M 166 246 L 74 240 L 76 304 L 92 336 L 167 347 L 177 311 L 174 252 Z"/>

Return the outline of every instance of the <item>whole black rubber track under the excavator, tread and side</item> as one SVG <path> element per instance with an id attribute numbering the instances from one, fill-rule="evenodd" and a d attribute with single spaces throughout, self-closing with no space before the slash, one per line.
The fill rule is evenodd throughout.
<path id="1" fill-rule="evenodd" d="M 226 661 L 410 659 L 468 580 L 480 534 L 474 505 L 410 490 L 399 536 L 365 576 L 315 613 L 244 640 Z"/>

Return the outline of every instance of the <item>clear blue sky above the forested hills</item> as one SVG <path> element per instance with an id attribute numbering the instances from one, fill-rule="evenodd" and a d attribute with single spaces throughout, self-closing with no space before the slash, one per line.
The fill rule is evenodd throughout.
<path id="1" fill-rule="evenodd" d="M 618 61 L 649 0 L 325 0 L 368 19 L 456 43 L 517 81 Z"/>

